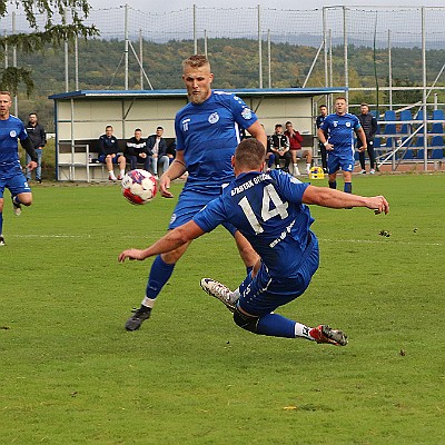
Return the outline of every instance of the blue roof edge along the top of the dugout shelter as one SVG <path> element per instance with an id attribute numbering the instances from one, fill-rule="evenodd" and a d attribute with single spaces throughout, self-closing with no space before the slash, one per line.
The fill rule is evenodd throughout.
<path id="1" fill-rule="evenodd" d="M 347 88 L 240 88 L 240 89 L 226 89 L 226 88 L 214 88 L 215 91 L 235 92 L 241 96 L 322 96 L 330 93 L 342 93 Z M 185 97 L 187 91 L 185 89 L 177 90 L 79 90 L 60 92 L 58 95 L 51 95 L 49 99 L 73 99 L 73 98 L 137 98 L 142 96 L 151 97 Z"/>

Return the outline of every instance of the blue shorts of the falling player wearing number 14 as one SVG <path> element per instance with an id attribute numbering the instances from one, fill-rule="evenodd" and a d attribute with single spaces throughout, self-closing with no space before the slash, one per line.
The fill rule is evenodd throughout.
<path id="1" fill-rule="evenodd" d="M 238 305 L 246 313 L 257 317 L 273 313 L 277 307 L 293 301 L 307 289 L 313 275 L 318 269 L 318 240 L 313 235 L 301 256 L 299 269 L 293 277 L 274 278 L 267 267 L 261 264 L 258 274 L 239 297 Z"/>

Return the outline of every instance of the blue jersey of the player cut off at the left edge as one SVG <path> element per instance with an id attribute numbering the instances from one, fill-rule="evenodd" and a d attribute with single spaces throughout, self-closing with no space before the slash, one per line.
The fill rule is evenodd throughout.
<path id="1" fill-rule="evenodd" d="M 0 178 L 8 179 L 21 172 L 18 138 L 28 137 L 23 122 L 10 116 L 0 120 Z"/>

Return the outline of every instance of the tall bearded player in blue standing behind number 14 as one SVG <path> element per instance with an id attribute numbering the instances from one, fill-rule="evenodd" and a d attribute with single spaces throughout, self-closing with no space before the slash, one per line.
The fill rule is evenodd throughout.
<path id="1" fill-rule="evenodd" d="M 169 229 L 189 221 L 234 179 L 230 162 L 240 141 L 240 129 L 246 129 L 264 146 L 267 144 L 266 132 L 257 116 L 239 97 L 211 90 L 214 75 L 205 56 L 195 55 L 182 62 L 182 80 L 189 103 L 176 115 L 176 158 L 159 181 L 161 196 L 171 198 L 170 182 L 188 171 Z M 226 228 L 234 235 L 246 267 L 251 268 L 257 261 L 257 254 L 235 227 Z M 157 296 L 187 247 L 188 243 L 155 259 L 146 296 L 140 308 L 127 320 L 127 330 L 139 329 L 142 322 L 149 318 Z"/>

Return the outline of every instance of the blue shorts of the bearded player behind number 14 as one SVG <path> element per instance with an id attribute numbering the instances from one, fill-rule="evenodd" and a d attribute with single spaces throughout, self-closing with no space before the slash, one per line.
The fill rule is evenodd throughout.
<path id="1" fill-rule="evenodd" d="M 178 204 L 171 215 L 168 229 L 175 229 L 194 219 L 194 216 L 212 199 L 218 198 L 221 194 L 221 186 L 206 187 L 197 189 L 188 189 L 185 187 L 179 195 Z M 231 235 L 237 230 L 231 224 L 222 225 Z"/>

